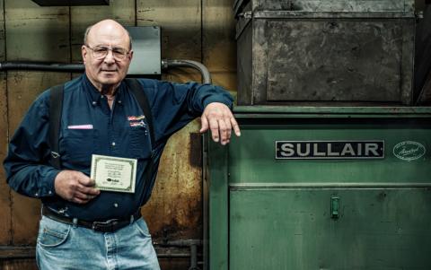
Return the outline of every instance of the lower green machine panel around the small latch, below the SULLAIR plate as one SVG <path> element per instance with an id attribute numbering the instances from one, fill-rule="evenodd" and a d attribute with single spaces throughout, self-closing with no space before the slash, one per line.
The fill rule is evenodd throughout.
<path id="1" fill-rule="evenodd" d="M 428 189 L 234 188 L 230 269 L 428 270 L 430 208 Z"/>

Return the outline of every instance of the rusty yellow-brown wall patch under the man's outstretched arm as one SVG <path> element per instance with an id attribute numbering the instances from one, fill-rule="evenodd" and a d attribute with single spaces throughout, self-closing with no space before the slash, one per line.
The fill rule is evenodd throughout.
<path id="1" fill-rule="evenodd" d="M 155 239 L 202 238 L 200 135 L 197 121 L 172 136 L 163 152 L 144 217 Z"/>

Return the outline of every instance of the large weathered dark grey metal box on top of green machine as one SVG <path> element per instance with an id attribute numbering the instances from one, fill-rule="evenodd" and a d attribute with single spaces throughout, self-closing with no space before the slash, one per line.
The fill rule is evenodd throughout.
<path id="1" fill-rule="evenodd" d="M 234 10 L 240 105 L 412 103 L 412 0 L 236 1 Z"/>

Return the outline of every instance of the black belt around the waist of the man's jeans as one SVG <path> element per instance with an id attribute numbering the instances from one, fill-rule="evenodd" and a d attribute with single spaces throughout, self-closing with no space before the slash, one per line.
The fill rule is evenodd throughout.
<path id="1" fill-rule="evenodd" d="M 136 213 L 128 216 L 128 218 L 110 219 L 104 222 L 87 222 L 83 220 L 78 220 L 73 217 L 68 217 L 63 214 L 56 213 L 45 205 L 42 206 L 42 214 L 57 222 L 80 226 L 87 229 L 92 229 L 93 231 L 114 232 L 128 226 L 129 224 L 139 219 L 141 217 L 141 209 L 139 208 Z"/>

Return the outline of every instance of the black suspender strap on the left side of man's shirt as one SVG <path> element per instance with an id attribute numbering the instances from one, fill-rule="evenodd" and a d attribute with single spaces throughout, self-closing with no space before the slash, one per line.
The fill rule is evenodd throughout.
<path id="1" fill-rule="evenodd" d="M 51 88 L 49 97 L 49 147 L 51 149 L 51 165 L 61 169 L 58 138 L 60 133 L 61 111 L 63 109 L 63 91 L 65 85 L 60 84 Z"/>

